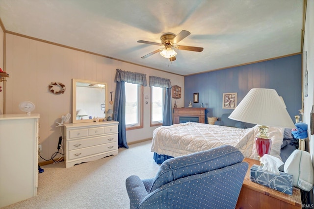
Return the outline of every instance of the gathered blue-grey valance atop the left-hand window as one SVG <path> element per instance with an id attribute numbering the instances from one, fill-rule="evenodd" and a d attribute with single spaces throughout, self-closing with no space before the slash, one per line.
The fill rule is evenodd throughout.
<path id="1" fill-rule="evenodd" d="M 115 82 L 125 81 L 132 84 L 147 86 L 146 74 L 117 69 Z"/>

